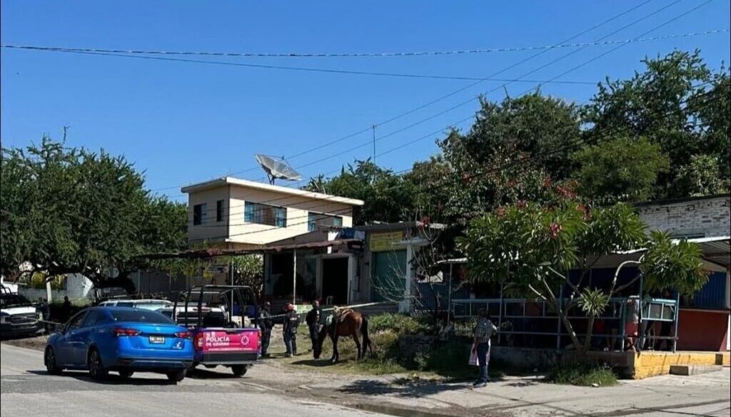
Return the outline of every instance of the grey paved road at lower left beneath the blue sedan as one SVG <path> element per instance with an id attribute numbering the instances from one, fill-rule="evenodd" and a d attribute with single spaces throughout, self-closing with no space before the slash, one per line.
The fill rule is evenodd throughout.
<path id="1" fill-rule="evenodd" d="M 162 378 L 160 378 L 162 377 Z M 0 416 L 377 416 L 322 402 L 298 401 L 249 382 L 250 378 L 186 378 L 178 385 L 164 375 L 135 374 L 102 383 L 86 372 L 45 373 L 42 352 L 0 345 Z"/>

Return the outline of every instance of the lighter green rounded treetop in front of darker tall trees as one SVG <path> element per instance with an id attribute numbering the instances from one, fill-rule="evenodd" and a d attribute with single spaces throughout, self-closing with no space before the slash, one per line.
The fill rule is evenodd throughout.
<path id="1" fill-rule="evenodd" d="M 645 138 L 620 137 L 575 153 L 573 177 L 582 196 L 596 202 L 641 201 L 654 196 L 657 177 L 670 162 Z"/>

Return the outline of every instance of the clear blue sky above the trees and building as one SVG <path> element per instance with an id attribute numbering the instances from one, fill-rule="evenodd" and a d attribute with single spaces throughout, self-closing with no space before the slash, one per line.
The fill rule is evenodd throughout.
<path id="1" fill-rule="evenodd" d="M 4 45 L 257 53 L 378 53 L 553 45 L 643 1 L 3 1 Z M 653 0 L 583 34 L 593 42 L 633 20 L 672 4 Z M 606 40 L 631 39 L 702 4 L 683 0 Z M 729 28 L 730 3 L 716 0 L 646 37 Z M 588 47 L 531 74 L 548 80 L 610 50 Z M 596 82 L 628 77 L 640 59 L 674 48 L 702 50 L 713 68 L 729 61 L 729 34 L 637 42 L 566 74 L 559 80 Z M 499 75 L 520 77 L 571 49 L 551 50 Z M 391 58 L 200 58 L 248 64 L 306 66 L 368 72 L 487 77 L 536 51 Z M 124 154 L 145 171 L 148 187 L 181 199 L 176 186 L 230 172 L 260 178 L 254 153 L 292 156 L 322 145 L 472 83 L 352 74 L 295 72 L 240 66 L 154 61 L 113 56 L 1 50 L 3 146 L 60 138 L 69 145 Z M 182 57 L 185 58 L 185 57 Z M 382 136 L 498 88 L 466 88 L 376 129 Z M 518 95 L 535 83 L 510 83 Z M 542 91 L 586 102 L 594 85 L 547 84 Z M 379 164 L 406 169 L 436 153 L 434 131 L 477 110 L 456 108 L 379 140 Z M 468 122 L 458 126 L 469 126 Z M 429 135 L 428 135 L 429 134 Z M 303 175 L 332 172 L 373 152 L 371 133 L 291 158 Z M 344 152 L 363 144 L 362 148 Z M 336 153 L 342 155 L 317 161 Z M 254 170 L 249 170 L 254 169 Z M 249 171 L 246 171 L 249 170 Z M 171 188 L 175 187 L 175 188 Z"/>

